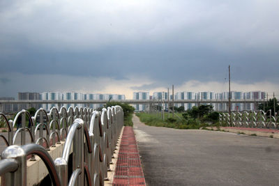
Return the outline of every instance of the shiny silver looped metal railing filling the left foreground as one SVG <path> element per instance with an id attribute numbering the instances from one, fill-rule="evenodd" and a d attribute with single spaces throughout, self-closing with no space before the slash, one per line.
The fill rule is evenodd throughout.
<path id="1" fill-rule="evenodd" d="M 26 116 L 30 127 L 26 127 Z M 1 185 L 27 185 L 27 158 L 30 155 L 38 155 L 43 160 L 54 185 L 104 185 L 123 126 L 121 107 L 107 107 L 102 111 L 62 107 L 60 111 L 52 108 L 49 113 L 38 109 L 34 116 L 22 110 L 14 121 L 8 121 L 4 114 L 1 117 L 8 127 L 8 139 L 1 136 L 8 146 L 1 153 Z M 18 118 L 21 118 L 22 127 L 13 135 Z M 43 132 L 44 128 L 46 132 Z M 39 137 L 35 139 L 38 131 Z M 31 137 L 30 144 L 26 144 L 25 132 Z M 21 146 L 14 145 L 19 134 Z M 47 150 L 60 141 L 65 141 L 63 153 L 52 160 Z M 69 162 L 71 150 L 73 164 Z M 73 170 L 70 178 L 68 170 Z"/>

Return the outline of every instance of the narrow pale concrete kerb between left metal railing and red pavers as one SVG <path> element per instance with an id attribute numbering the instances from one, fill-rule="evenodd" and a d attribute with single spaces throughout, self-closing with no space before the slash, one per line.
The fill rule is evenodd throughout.
<path id="1" fill-rule="evenodd" d="M 107 171 L 107 178 L 109 178 L 109 180 L 105 180 L 105 186 L 112 185 L 113 180 L 114 180 L 114 173 L 115 173 L 115 169 L 116 169 L 116 162 L 118 160 L 119 148 L 120 148 L 120 144 L 121 144 L 123 129 L 124 129 L 124 127 L 122 127 L 119 138 L 117 140 L 116 150 L 114 150 L 114 155 L 112 158 L 112 164 L 110 164 L 110 171 Z"/>

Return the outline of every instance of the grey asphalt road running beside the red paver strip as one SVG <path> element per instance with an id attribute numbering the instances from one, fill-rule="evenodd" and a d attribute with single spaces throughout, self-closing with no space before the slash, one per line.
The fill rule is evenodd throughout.
<path id="1" fill-rule="evenodd" d="M 147 185 L 279 185 L 278 139 L 133 123 Z"/>

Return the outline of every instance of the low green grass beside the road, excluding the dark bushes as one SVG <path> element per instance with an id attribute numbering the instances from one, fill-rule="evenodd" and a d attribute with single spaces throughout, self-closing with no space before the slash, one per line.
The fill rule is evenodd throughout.
<path id="1" fill-rule="evenodd" d="M 187 121 L 183 118 L 182 114 L 176 113 L 177 116 L 172 118 L 172 114 L 169 114 L 167 118 L 167 113 L 165 113 L 165 120 L 163 121 L 162 115 L 160 114 L 147 114 L 147 113 L 137 113 L 136 114 L 142 123 L 146 125 L 156 126 L 156 127 L 170 127 L 176 129 L 199 129 L 199 127 L 204 127 L 198 120 L 193 118 Z"/>

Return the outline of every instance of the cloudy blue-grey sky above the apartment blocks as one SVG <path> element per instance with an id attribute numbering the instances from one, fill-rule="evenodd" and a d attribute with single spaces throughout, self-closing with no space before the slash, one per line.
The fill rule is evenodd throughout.
<path id="1" fill-rule="evenodd" d="M 279 95 L 278 0 L 1 0 L 0 97 L 17 92 Z"/>

